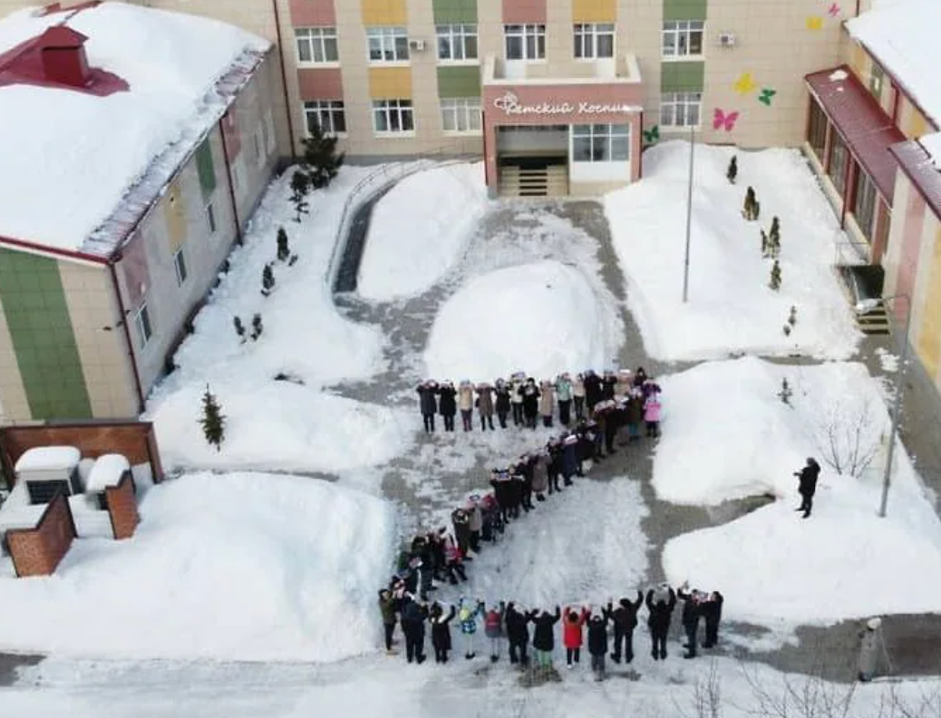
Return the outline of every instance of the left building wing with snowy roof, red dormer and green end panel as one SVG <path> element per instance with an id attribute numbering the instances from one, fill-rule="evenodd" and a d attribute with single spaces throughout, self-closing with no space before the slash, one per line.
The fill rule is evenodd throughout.
<path id="1" fill-rule="evenodd" d="M 0 422 L 139 412 L 278 163 L 272 53 L 118 3 L 0 20 Z"/>

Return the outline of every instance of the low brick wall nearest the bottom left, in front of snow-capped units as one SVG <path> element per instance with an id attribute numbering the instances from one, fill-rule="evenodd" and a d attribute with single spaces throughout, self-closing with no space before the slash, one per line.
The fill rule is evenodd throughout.
<path id="1" fill-rule="evenodd" d="M 63 494 L 46 507 L 35 529 L 7 532 L 7 543 L 16 575 L 48 576 L 56 570 L 75 537 L 72 509 Z"/>

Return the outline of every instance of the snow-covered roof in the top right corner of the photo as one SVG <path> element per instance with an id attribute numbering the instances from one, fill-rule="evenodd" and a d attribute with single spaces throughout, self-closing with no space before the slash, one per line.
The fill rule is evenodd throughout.
<path id="1" fill-rule="evenodd" d="M 941 82 L 937 79 L 941 2 L 877 0 L 868 12 L 848 20 L 846 27 L 934 124 L 941 124 Z"/>

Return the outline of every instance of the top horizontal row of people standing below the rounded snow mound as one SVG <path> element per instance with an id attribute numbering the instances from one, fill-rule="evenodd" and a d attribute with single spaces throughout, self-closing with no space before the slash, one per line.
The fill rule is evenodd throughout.
<path id="1" fill-rule="evenodd" d="M 438 415 L 444 420 L 444 430 L 454 431 L 458 412 L 464 431 L 472 431 L 476 409 L 482 431 L 494 429 L 494 415 L 502 429 L 510 421 L 534 429 L 540 420 L 543 426 L 551 427 L 556 416 L 559 423 L 569 426 L 588 419 L 598 421 L 616 410 L 623 414 L 617 420 L 629 429 L 631 438 L 640 436 L 642 425 L 646 426 L 646 436 L 659 435 L 661 389 L 646 375 L 644 367 L 636 372 L 609 370 L 601 375 L 592 370 L 574 377 L 565 373 L 538 383 L 524 372 L 509 379 L 499 378 L 493 384 L 465 379 L 456 387 L 452 381 L 428 379 L 415 391 L 428 434 L 435 431 Z"/>

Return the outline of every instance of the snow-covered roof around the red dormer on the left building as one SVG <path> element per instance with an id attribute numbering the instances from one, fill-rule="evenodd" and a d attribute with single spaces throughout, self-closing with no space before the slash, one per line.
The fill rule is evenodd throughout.
<path id="1" fill-rule="evenodd" d="M 107 257 L 231 104 L 241 86 L 227 77 L 250 76 L 270 42 L 215 20 L 119 2 L 21 11 L 0 20 L 0 75 L 5 63 L 26 65 L 24 53 L 38 52 L 30 41 L 59 24 L 88 38 L 88 67 L 120 88 L 101 96 L 0 82 L 0 237 Z M 134 196 L 138 188 L 146 198 Z M 140 212 L 109 223 L 128 201 Z"/>

